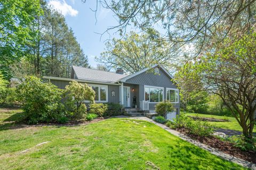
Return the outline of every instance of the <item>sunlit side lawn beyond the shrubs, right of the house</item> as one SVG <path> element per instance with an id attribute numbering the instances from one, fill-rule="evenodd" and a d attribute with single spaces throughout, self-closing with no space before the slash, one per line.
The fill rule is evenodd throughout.
<path id="1" fill-rule="evenodd" d="M 182 112 L 183 113 L 183 112 Z M 215 115 L 206 115 L 206 114 L 196 114 L 196 113 L 185 113 L 188 116 L 198 116 L 198 117 L 209 117 L 209 118 L 217 118 L 217 119 L 223 119 L 223 116 L 215 116 Z M 223 129 L 231 129 L 236 131 L 241 131 L 242 128 L 237 122 L 235 117 L 228 117 L 230 122 L 209 122 L 211 125 L 217 127 L 217 128 L 223 128 Z M 256 128 L 254 126 L 253 132 L 256 132 Z"/>

